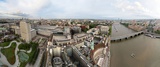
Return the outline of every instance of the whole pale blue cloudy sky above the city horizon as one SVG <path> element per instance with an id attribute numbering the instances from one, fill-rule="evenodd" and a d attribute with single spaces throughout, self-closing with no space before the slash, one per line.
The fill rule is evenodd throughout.
<path id="1" fill-rule="evenodd" d="M 0 18 L 159 19 L 160 0 L 0 0 Z"/>

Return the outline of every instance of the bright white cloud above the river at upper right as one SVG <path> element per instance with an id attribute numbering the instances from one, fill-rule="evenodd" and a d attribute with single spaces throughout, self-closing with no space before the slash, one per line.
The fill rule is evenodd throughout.
<path id="1" fill-rule="evenodd" d="M 128 1 L 128 0 L 120 0 L 117 1 L 118 5 L 115 5 L 118 9 L 120 9 L 123 13 L 128 17 L 132 18 L 140 18 L 140 19 L 148 19 L 155 18 L 153 16 L 153 11 L 149 10 L 147 7 L 141 4 L 139 1 Z"/>

